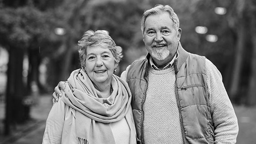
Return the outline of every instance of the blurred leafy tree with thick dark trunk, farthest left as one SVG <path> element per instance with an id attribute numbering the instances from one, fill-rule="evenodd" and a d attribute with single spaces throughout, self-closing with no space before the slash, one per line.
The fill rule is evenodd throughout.
<path id="1" fill-rule="evenodd" d="M 24 99 L 23 58 L 27 51 L 36 51 L 42 39 L 47 39 L 52 24 L 48 16 L 51 15 L 40 11 L 30 0 L 4 0 L 1 4 L 0 44 L 9 51 L 5 134 L 10 133 L 11 124 L 29 119 L 29 104 Z M 36 59 L 30 61 L 36 62 L 31 63 L 34 66 L 40 58 L 37 53 L 33 53 Z"/>

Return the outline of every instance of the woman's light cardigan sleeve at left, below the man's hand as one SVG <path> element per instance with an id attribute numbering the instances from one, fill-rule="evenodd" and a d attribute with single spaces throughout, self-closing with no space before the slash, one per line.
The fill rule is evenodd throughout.
<path id="1" fill-rule="evenodd" d="M 46 121 L 43 135 L 43 144 L 60 144 L 65 118 L 65 104 L 63 101 L 55 102 Z"/>

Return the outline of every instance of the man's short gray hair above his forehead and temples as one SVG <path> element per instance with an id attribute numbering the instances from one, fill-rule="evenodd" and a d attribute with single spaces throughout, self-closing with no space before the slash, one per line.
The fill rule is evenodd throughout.
<path id="1" fill-rule="evenodd" d="M 144 33 L 145 31 L 145 21 L 146 21 L 146 18 L 150 15 L 154 15 L 154 14 L 160 14 L 160 13 L 163 13 L 163 12 L 167 12 L 170 14 L 170 18 L 171 20 L 173 21 L 174 23 L 174 28 L 176 30 L 179 29 L 179 18 L 177 16 L 177 14 L 174 12 L 174 10 L 171 8 L 171 6 L 169 5 L 162 5 L 162 4 L 157 4 L 155 5 L 154 8 L 151 8 L 151 9 L 148 9 L 146 10 L 143 15 L 142 15 L 142 19 L 141 19 L 141 31 L 142 31 L 142 34 Z"/>

